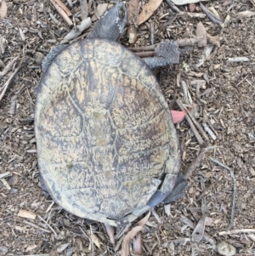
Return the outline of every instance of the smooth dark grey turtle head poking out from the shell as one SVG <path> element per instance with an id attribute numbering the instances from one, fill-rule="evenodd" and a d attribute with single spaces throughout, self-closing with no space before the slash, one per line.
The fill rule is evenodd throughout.
<path id="1" fill-rule="evenodd" d="M 105 12 L 88 34 L 88 38 L 104 38 L 116 41 L 122 34 L 127 23 L 127 9 L 124 3 L 116 5 Z"/>

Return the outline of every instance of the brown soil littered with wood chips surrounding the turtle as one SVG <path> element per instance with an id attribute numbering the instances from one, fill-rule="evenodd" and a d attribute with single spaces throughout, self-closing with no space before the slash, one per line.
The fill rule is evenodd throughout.
<path id="1" fill-rule="evenodd" d="M 20 69 L 0 101 L 0 255 L 120 255 L 119 250 L 114 251 L 104 225 L 66 213 L 39 186 L 33 114 L 37 83 L 42 76 L 40 64 L 49 48 L 58 44 L 71 28 L 49 1 L 5 1 L 8 12 L 0 19 L 0 71 L 15 57 L 17 60 L 6 74 L 0 73 L 0 94 L 15 69 Z M 161 69 L 161 88 L 169 104 L 177 99 L 185 103 L 184 90 L 177 78 L 180 73 L 195 105 L 192 115 L 200 125 L 208 120 L 212 123 L 217 139 L 207 134 L 207 145 L 218 147 L 207 151 L 196 166 L 184 198 L 171 205 L 170 213 L 160 205 L 150 215 L 142 231 L 144 255 L 219 255 L 215 245 L 223 240 L 236 248 L 235 255 L 255 255 L 255 20 L 238 19 L 240 12 L 254 12 L 255 8 L 252 0 L 203 3 L 207 8 L 214 7 L 222 20 L 229 15 L 224 27 L 208 17 L 192 19 L 185 14 L 179 14 L 166 27 L 168 16 L 161 18 L 168 13 L 166 2 L 149 20 L 154 24 L 155 43 L 162 38 L 189 38 L 195 34 L 199 21 L 207 33 L 221 41 L 218 47 L 213 46 L 199 69 L 194 65 L 201 59 L 203 48 L 197 45 L 183 51 L 179 65 Z M 77 14 L 79 1 L 68 8 Z M 203 14 L 199 4 L 196 8 L 195 12 Z M 189 7 L 179 9 L 187 12 Z M 54 14 L 57 24 L 49 19 L 49 13 Z M 76 18 L 77 24 L 80 20 Z M 140 26 L 140 30 L 147 33 L 142 33 L 136 46 L 150 45 L 147 26 Z M 122 38 L 126 44 L 125 37 Z M 228 61 L 235 57 L 246 57 L 249 61 Z M 192 87 L 195 79 L 207 80 L 206 88 Z M 177 105 L 173 107 L 178 110 Z M 177 130 L 183 151 L 182 171 L 186 172 L 206 145 L 198 143 L 187 121 L 180 122 Z M 227 230 L 231 222 L 234 179 L 228 169 L 212 162 L 210 157 L 234 172 L 237 190 L 230 235 L 221 236 L 219 232 Z M 21 217 L 20 210 L 34 214 Z M 207 239 L 195 243 L 192 225 L 201 223 L 202 216 L 206 217 Z M 202 232 L 200 228 L 198 231 Z"/>

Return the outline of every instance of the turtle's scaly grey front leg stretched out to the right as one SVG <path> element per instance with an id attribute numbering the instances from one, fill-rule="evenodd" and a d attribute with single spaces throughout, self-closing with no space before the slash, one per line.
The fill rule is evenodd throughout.
<path id="1" fill-rule="evenodd" d="M 144 58 L 143 60 L 150 66 L 150 69 L 155 69 L 169 64 L 178 64 L 178 44 L 174 41 L 162 40 L 156 47 L 156 56 Z"/>

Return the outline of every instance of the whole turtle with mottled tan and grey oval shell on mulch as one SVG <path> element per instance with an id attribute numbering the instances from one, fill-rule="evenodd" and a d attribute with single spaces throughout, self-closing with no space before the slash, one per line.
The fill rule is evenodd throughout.
<path id="1" fill-rule="evenodd" d="M 116 227 L 177 200 L 185 187 L 160 85 L 116 42 L 126 20 L 124 3 L 116 3 L 88 37 L 46 60 L 34 124 L 40 177 L 54 202 Z"/>

